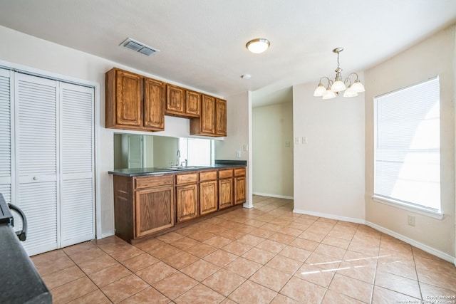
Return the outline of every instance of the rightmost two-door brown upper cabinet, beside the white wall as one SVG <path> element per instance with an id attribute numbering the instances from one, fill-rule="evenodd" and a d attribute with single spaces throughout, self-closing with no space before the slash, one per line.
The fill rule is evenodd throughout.
<path id="1" fill-rule="evenodd" d="M 202 95 L 201 116 L 190 120 L 190 134 L 227 136 L 227 100 Z"/>

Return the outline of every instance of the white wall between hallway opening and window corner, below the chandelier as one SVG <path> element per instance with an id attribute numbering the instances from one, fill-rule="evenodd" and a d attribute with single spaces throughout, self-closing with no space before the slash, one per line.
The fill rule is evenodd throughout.
<path id="1" fill-rule="evenodd" d="M 361 81 L 363 75 L 360 74 Z M 294 209 L 364 219 L 364 95 L 314 97 L 315 83 L 293 87 Z"/>

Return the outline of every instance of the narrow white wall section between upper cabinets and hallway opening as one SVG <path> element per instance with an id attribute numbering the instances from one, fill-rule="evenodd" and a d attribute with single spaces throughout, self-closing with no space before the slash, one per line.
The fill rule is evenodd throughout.
<path id="1" fill-rule="evenodd" d="M 215 159 L 247 160 L 247 203 L 244 206 L 252 207 L 252 93 L 239 93 L 226 99 L 228 136 L 215 142 Z M 237 151 L 241 152 L 239 158 Z"/>

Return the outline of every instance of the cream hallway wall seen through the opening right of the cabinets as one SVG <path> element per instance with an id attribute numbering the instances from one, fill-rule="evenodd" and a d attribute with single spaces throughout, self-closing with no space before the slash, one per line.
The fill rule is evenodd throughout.
<path id="1" fill-rule="evenodd" d="M 252 127 L 254 194 L 292 199 L 293 103 L 254 108 Z"/>

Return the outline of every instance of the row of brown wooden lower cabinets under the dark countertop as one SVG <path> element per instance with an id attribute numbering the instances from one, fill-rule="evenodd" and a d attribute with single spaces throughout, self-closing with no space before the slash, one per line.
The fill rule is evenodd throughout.
<path id="1" fill-rule="evenodd" d="M 245 202 L 245 168 L 114 175 L 113 181 L 115 235 L 128 242 Z"/>

